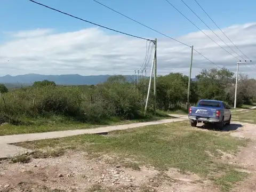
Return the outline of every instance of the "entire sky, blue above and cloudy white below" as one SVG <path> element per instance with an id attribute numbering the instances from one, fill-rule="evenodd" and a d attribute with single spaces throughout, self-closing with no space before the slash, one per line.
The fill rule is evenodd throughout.
<path id="1" fill-rule="evenodd" d="M 214 25 L 194 0 L 183 0 L 231 49 L 191 12 L 181 0 L 169 0 L 198 30 L 165 0 L 98 0 L 99 2 L 187 45 L 193 45 L 192 76 L 203 68 L 226 67 L 247 59 Z M 189 74 L 189 46 L 180 44 L 119 15 L 93 0 L 38 0 L 99 25 L 135 36 L 157 38 L 157 74 Z M 197 2 L 233 43 L 256 64 L 256 12 L 253 0 Z M 147 69 L 152 43 L 70 18 L 28 0 L 1 0 L 0 76 L 22 74 L 132 75 Z M 148 48 L 146 48 L 148 47 Z M 236 52 L 234 52 L 233 50 Z M 146 54 L 147 53 L 147 54 Z M 239 57 L 241 55 L 243 58 Z M 148 55 L 146 65 L 143 61 Z M 247 59 L 248 60 L 248 59 Z M 215 63 L 215 65 L 213 64 Z M 256 78 L 256 65 L 240 65 L 239 72 Z M 217 66 L 216 66 L 217 65 Z"/>

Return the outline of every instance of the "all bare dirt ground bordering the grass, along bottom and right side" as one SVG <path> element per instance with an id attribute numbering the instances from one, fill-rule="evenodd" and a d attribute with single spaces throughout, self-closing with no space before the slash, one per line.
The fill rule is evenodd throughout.
<path id="1" fill-rule="evenodd" d="M 209 131 L 200 129 L 202 131 Z M 233 122 L 225 131 L 233 137 L 251 139 L 247 147 L 236 156 L 223 154 L 223 162 L 242 166 L 250 177 L 234 186 L 233 191 L 256 191 L 256 125 Z M 225 132 L 227 133 L 227 132 Z M 158 171 L 141 166 L 137 170 L 118 163 L 109 164 L 100 156 L 87 158 L 88 154 L 70 151 L 63 156 L 33 158 L 28 163 L 0 164 L 0 191 L 100 191 L 100 192 L 219 192 L 212 181 L 193 173 L 178 170 Z"/>

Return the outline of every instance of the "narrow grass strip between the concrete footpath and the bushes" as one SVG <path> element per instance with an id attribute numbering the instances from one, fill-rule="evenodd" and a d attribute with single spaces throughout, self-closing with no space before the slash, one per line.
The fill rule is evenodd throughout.
<path id="1" fill-rule="evenodd" d="M 146 117 L 134 120 L 122 120 L 120 118 L 110 118 L 102 120 L 100 123 L 81 123 L 72 119 L 67 119 L 61 116 L 52 116 L 51 118 L 37 118 L 33 125 L 11 125 L 5 124 L 1 126 L 0 135 L 11 134 L 26 134 L 26 133 L 42 133 L 49 131 L 64 131 L 64 130 L 78 130 L 78 129 L 91 129 L 100 126 L 109 125 L 123 125 L 130 123 L 157 121 L 163 118 L 172 118 L 163 111 L 157 111 L 156 115 L 149 114 Z"/>

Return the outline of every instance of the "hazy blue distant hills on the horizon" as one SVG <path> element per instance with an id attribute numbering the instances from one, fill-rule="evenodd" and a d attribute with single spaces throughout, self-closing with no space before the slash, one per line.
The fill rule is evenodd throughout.
<path id="1" fill-rule="evenodd" d="M 4 83 L 7 87 L 18 88 L 21 86 L 32 85 L 35 81 L 54 81 L 58 85 L 95 85 L 103 83 L 111 75 L 90 75 L 82 76 L 78 74 L 74 75 L 39 75 L 39 74 L 26 74 L 26 75 L 5 75 L 0 77 L 0 83 Z M 132 82 L 134 75 L 125 75 L 127 81 Z M 139 76 L 140 77 L 140 76 Z M 135 77 L 137 79 L 137 76 Z M 192 81 L 196 81 L 196 78 L 192 78 Z"/>

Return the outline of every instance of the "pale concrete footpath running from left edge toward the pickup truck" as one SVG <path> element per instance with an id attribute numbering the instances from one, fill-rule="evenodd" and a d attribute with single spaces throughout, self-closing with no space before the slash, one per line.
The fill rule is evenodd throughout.
<path id="1" fill-rule="evenodd" d="M 63 138 L 63 137 L 70 137 L 73 135 L 80 135 L 80 134 L 100 134 L 100 133 L 107 133 L 107 132 L 116 131 L 116 130 L 132 129 L 135 127 L 142 127 L 147 125 L 158 125 L 158 124 L 179 122 L 179 121 L 184 121 L 188 119 L 187 115 L 170 114 L 170 116 L 173 116 L 175 118 L 162 119 L 159 121 L 151 121 L 151 122 L 143 122 L 143 123 L 132 123 L 132 124 L 126 124 L 126 125 L 106 126 L 106 127 L 95 128 L 95 129 L 53 131 L 53 132 L 45 132 L 45 133 L 30 133 L 30 134 L 15 134 L 15 135 L 0 136 L 0 159 L 33 152 L 25 148 L 9 145 L 10 143 L 35 141 L 35 140 L 42 140 L 42 139 Z"/>

